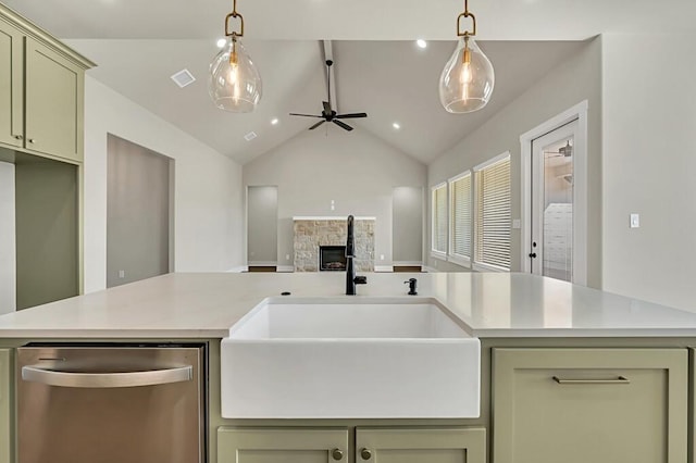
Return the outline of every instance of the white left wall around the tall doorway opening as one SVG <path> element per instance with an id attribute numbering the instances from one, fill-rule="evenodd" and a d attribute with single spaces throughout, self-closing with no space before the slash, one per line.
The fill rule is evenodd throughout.
<path id="1" fill-rule="evenodd" d="M 107 281 L 107 134 L 174 159 L 174 270 L 244 264 L 241 167 L 142 107 L 85 82 L 85 292 Z"/>

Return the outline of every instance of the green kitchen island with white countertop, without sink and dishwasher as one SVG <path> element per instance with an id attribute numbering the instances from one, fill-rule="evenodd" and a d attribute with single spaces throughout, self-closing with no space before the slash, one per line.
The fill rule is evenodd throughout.
<path id="1" fill-rule="evenodd" d="M 407 296 L 403 281 L 411 277 L 419 296 Z M 211 463 L 692 458 L 696 314 L 526 274 L 375 273 L 351 297 L 343 295 L 344 278 L 170 274 L 0 316 L 0 442 L 13 440 L 12 395 L 1 391 L 14 390 L 14 348 L 29 341 L 188 340 L 209 347 Z M 481 340 L 480 417 L 223 418 L 220 340 L 270 297 L 436 299 Z M 12 447 L 0 450 L 0 462 L 13 461 Z M 459 459 L 463 454 L 469 460 Z"/>

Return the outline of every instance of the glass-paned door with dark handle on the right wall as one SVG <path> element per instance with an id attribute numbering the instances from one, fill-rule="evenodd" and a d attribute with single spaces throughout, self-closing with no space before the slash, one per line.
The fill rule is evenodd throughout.
<path id="1" fill-rule="evenodd" d="M 532 273 L 575 281 L 574 164 L 577 120 L 532 141 Z"/>

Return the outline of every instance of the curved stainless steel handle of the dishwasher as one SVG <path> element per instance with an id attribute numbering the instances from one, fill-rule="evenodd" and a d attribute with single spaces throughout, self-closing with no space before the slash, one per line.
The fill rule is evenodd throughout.
<path id="1" fill-rule="evenodd" d="M 165 370 L 127 373 L 73 373 L 49 370 L 41 365 L 22 367 L 22 379 L 48 386 L 77 388 L 122 388 L 183 383 L 194 378 L 190 365 Z"/>

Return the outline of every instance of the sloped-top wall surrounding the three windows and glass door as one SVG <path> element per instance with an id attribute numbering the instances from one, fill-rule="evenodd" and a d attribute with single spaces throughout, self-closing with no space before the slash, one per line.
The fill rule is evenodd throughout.
<path id="1" fill-rule="evenodd" d="M 520 135 L 583 100 L 588 101 L 588 242 L 589 286 L 601 284 L 601 39 L 588 41 L 579 52 L 552 68 L 543 79 L 496 113 L 478 129 L 443 153 L 430 165 L 428 186 L 437 185 L 475 165 L 509 151 L 512 185 L 512 217 L 521 218 Z M 495 96 L 494 96 L 495 98 Z M 465 117 L 465 115 L 464 115 Z M 430 189 L 427 191 L 430 198 Z M 427 242 L 431 234 L 431 201 L 426 201 Z M 511 270 L 521 268 L 520 229 L 511 230 Z M 430 249 L 430 245 L 428 245 Z M 430 252 L 428 252 L 430 253 Z M 458 272 L 463 267 L 430 258 L 428 265 L 439 271 Z"/>

